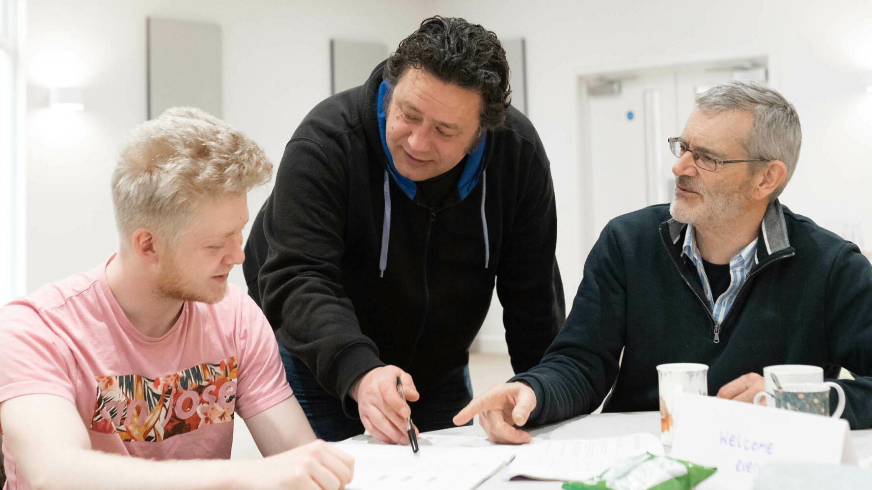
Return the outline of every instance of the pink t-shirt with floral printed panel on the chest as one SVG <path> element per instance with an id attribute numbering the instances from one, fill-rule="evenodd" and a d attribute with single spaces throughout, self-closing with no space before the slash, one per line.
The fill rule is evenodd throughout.
<path id="1" fill-rule="evenodd" d="M 104 264 L 0 309 L 0 346 L 0 403 L 68 399 L 106 453 L 227 459 L 234 413 L 248 419 L 291 395 L 269 323 L 232 285 L 219 303 L 186 302 L 166 335 L 146 337 L 112 296 Z M 4 488 L 29 489 L 5 441 L 3 457 Z"/>

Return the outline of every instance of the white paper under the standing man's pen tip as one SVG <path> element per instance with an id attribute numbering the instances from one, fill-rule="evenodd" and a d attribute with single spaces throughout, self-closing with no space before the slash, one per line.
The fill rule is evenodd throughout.
<path id="1" fill-rule="evenodd" d="M 477 440 L 453 441 L 419 438 L 420 451 L 409 446 L 382 444 L 371 438 L 335 443 L 354 457 L 354 479 L 349 490 L 467 490 L 478 487 L 514 457 L 515 446 L 473 446 Z M 456 444 L 460 443 L 460 444 Z M 468 445 L 468 446 L 465 446 Z"/>

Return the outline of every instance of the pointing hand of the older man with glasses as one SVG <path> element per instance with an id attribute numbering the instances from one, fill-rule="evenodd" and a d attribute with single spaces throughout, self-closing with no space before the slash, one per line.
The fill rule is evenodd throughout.
<path id="1" fill-rule="evenodd" d="M 454 425 L 464 425 L 479 415 L 481 427 L 487 437 L 497 444 L 526 444 L 528 432 L 517 429 L 527 423 L 536 406 L 533 389 L 523 383 L 504 383 L 492 386 L 485 394 L 473 398 L 469 405 L 454 416 Z"/>

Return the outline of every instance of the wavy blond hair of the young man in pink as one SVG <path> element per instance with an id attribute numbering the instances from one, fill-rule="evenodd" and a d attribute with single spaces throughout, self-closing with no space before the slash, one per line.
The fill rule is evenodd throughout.
<path id="1" fill-rule="evenodd" d="M 194 107 L 167 109 L 130 133 L 112 173 L 121 248 L 137 228 L 172 246 L 197 202 L 247 193 L 271 176 L 262 148 L 239 130 Z"/>

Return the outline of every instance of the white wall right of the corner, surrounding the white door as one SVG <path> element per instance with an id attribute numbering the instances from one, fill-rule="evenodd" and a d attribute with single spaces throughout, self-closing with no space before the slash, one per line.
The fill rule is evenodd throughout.
<path id="1" fill-rule="evenodd" d="M 527 39 L 528 116 L 551 160 L 568 305 L 600 231 L 582 226 L 580 217 L 589 194 L 579 165 L 586 149 L 576 80 L 583 74 L 768 56 L 771 85 L 794 102 L 804 134 L 781 201 L 872 249 L 872 94 L 865 91 L 872 85 L 872 2 L 445 0 L 439 6 L 500 37 Z M 482 334 L 497 338 L 494 316 Z"/>

